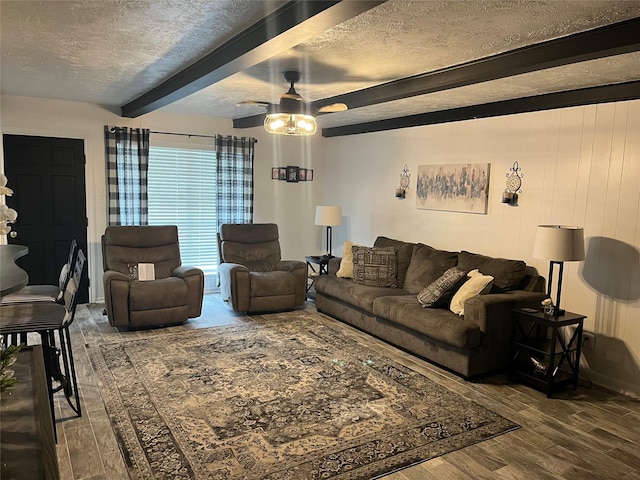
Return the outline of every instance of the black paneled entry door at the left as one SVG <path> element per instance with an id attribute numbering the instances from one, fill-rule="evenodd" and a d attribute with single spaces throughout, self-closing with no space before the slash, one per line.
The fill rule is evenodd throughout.
<path id="1" fill-rule="evenodd" d="M 13 196 L 7 204 L 18 212 L 9 243 L 26 245 L 29 254 L 16 263 L 32 285 L 57 285 L 73 238 L 87 253 L 84 141 L 4 135 L 4 168 Z M 78 302 L 89 301 L 88 281 Z"/>

